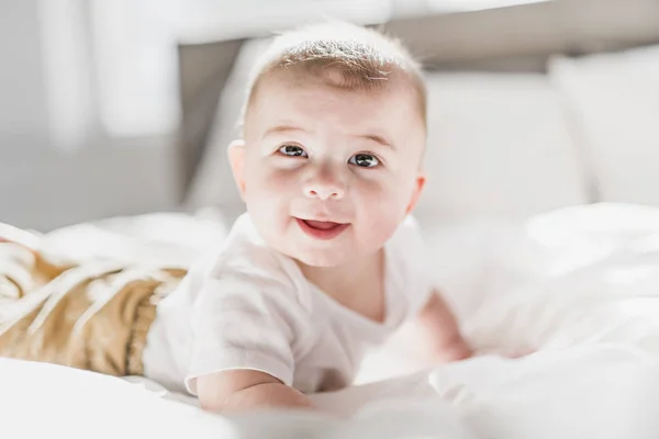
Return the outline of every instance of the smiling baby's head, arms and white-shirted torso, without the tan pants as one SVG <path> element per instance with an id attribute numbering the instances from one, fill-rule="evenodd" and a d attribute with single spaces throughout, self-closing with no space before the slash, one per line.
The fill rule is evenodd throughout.
<path id="1" fill-rule="evenodd" d="M 365 350 L 410 320 L 437 361 L 469 357 L 409 216 L 425 106 L 417 65 L 377 32 L 280 36 L 228 150 L 247 213 L 158 306 L 145 373 L 211 410 L 310 407 L 305 393 L 350 384 Z"/>

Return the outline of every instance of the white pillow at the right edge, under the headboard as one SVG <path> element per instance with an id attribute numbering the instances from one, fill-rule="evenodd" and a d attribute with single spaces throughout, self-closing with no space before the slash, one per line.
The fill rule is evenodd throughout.
<path id="1" fill-rule="evenodd" d="M 549 76 L 579 126 L 600 200 L 659 206 L 659 45 L 559 57 Z"/>

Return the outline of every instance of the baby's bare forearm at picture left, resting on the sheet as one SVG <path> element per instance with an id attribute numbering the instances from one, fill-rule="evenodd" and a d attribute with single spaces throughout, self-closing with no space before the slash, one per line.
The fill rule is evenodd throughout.
<path id="1" fill-rule="evenodd" d="M 313 408 L 306 396 L 264 372 L 234 370 L 197 379 L 201 408 L 245 412 L 263 408 Z"/>

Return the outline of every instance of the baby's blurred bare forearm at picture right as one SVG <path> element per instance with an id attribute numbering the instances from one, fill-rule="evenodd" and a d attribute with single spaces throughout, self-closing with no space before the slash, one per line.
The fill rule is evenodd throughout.
<path id="1" fill-rule="evenodd" d="M 421 338 L 433 362 L 448 362 L 471 357 L 456 318 L 438 291 L 434 291 L 417 320 Z M 429 349 L 429 350 L 427 350 Z"/>

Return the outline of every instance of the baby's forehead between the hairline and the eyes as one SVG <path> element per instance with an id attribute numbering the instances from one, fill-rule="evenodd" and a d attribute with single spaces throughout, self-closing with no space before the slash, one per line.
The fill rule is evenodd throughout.
<path id="1" fill-rule="evenodd" d="M 245 117 L 244 138 L 264 147 L 268 139 L 281 137 L 316 147 L 375 139 L 403 154 L 412 145 L 425 145 L 417 105 L 413 89 L 404 83 L 346 89 L 314 76 L 278 75 L 258 86 Z"/>

